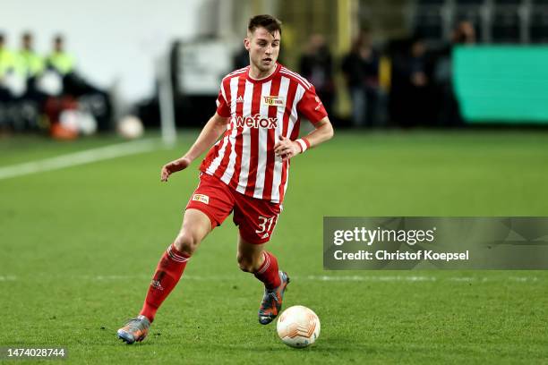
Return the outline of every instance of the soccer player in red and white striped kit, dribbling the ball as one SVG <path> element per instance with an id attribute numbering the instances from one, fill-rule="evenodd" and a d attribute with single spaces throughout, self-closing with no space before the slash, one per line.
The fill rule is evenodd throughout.
<path id="1" fill-rule="evenodd" d="M 128 344 L 145 338 L 194 250 L 231 212 L 239 230 L 239 267 L 265 287 L 259 322 L 269 324 L 281 310 L 289 277 L 278 270 L 278 259 L 265 244 L 278 223 L 289 161 L 333 136 L 313 85 L 277 63 L 281 32 L 281 22 L 270 15 L 249 21 L 244 46 L 250 65 L 225 76 L 215 115 L 191 149 L 161 169 L 161 181 L 167 182 L 210 149 L 201 162 L 200 183 L 186 206 L 183 226 L 158 263 L 141 313 L 117 332 Z M 300 115 L 315 127 L 301 139 Z"/>

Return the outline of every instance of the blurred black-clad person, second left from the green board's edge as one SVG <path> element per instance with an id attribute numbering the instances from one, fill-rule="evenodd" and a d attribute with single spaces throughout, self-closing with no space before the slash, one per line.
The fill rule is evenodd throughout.
<path id="1" fill-rule="evenodd" d="M 402 127 L 432 125 L 432 60 L 421 37 L 398 47 L 392 55 L 390 119 Z"/>

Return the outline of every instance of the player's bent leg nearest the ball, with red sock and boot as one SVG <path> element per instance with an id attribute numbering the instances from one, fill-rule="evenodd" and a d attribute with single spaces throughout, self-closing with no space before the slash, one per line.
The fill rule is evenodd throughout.
<path id="1" fill-rule="evenodd" d="M 264 284 L 264 294 L 258 313 L 261 325 L 268 325 L 278 316 L 289 283 L 287 274 L 278 269 L 276 256 L 264 250 L 265 244 L 248 242 L 242 233 L 238 237 L 237 260 L 240 269 L 253 273 Z"/>

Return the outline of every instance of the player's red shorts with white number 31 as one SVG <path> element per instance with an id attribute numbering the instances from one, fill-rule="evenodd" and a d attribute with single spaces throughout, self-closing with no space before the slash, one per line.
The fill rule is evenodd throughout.
<path id="1" fill-rule="evenodd" d="M 250 243 L 270 241 L 278 223 L 280 205 L 263 199 L 248 197 L 217 177 L 200 174 L 200 183 L 193 192 L 186 209 L 198 209 L 210 217 L 211 229 L 221 225 L 234 210 L 233 221 L 240 235 Z"/>

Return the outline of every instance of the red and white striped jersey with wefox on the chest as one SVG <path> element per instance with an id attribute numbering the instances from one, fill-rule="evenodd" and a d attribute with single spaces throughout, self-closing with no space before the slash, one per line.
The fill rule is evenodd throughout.
<path id="1" fill-rule="evenodd" d="M 327 115 L 313 85 L 281 64 L 261 80 L 253 79 L 247 66 L 221 81 L 217 113 L 230 117 L 230 123 L 201 163 L 201 172 L 247 196 L 281 203 L 289 161 L 275 155 L 274 145 L 281 135 L 298 138 L 300 115 L 312 123 Z"/>

